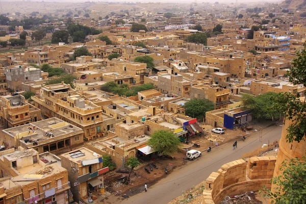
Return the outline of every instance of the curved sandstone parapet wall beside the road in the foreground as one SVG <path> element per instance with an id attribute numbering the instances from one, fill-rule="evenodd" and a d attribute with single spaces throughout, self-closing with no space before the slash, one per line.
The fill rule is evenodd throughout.
<path id="1" fill-rule="evenodd" d="M 206 180 L 203 204 L 219 204 L 225 196 L 271 187 L 276 157 L 252 157 L 248 163 L 242 159 L 221 166 Z"/>

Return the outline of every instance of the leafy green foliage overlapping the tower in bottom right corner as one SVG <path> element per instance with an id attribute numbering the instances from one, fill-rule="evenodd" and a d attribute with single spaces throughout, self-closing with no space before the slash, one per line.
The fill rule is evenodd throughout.
<path id="1" fill-rule="evenodd" d="M 298 158 L 291 159 L 289 162 L 284 161 L 281 168 L 282 174 L 273 177 L 271 182 L 278 187 L 275 192 L 264 187 L 260 192 L 263 192 L 264 197 L 268 197 L 271 203 L 282 204 L 301 204 L 306 203 L 306 157 L 302 160 Z"/>

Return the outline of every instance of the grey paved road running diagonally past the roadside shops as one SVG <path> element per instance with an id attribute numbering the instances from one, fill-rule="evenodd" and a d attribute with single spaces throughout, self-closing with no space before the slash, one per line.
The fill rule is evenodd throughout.
<path id="1" fill-rule="evenodd" d="M 263 143 L 268 144 L 268 140 L 272 143 L 276 139 L 281 139 L 281 133 L 281 126 L 267 127 L 263 130 Z M 185 167 L 174 170 L 155 185 L 148 186 L 147 192 L 141 192 L 122 201 L 117 200 L 116 203 L 167 203 L 180 196 L 183 191 L 207 179 L 211 172 L 218 171 L 223 164 L 240 159 L 243 154 L 261 145 L 257 132 L 247 137 L 245 141 L 238 141 L 238 148 L 235 150 L 232 143 L 221 145 L 218 149 L 213 148 L 211 152 L 204 152 L 201 158 L 188 161 Z"/>

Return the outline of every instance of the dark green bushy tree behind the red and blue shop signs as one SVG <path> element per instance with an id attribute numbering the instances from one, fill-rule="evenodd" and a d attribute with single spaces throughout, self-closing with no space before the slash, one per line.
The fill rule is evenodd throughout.
<path id="1" fill-rule="evenodd" d="M 212 111 L 214 108 L 215 104 L 208 99 L 193 98 L 185 104 L 186 115 L 198 120 L 204 119 L 206 112 Z"/>

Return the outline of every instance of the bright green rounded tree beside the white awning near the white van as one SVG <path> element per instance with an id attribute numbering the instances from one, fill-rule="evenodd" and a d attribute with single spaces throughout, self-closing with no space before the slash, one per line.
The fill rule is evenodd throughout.
<path id="1" fill-rule="evenodd" d="M 167 156 L 179 151 L 181 141 L 169 130 L 158 130 L 151 135 L 148 145 L 159 154 Z"/>

